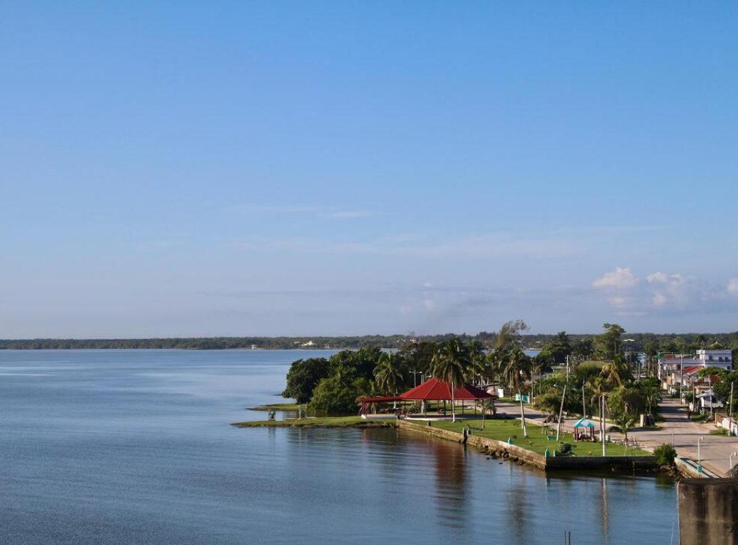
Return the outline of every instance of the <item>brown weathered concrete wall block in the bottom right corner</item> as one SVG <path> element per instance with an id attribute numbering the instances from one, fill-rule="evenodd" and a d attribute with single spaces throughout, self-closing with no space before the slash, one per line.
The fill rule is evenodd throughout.
<path id="1" fill-rule="evenodd" d="M 677 490 L 680 545 L 738 545 L 738 481 L 684 479 Z"/>

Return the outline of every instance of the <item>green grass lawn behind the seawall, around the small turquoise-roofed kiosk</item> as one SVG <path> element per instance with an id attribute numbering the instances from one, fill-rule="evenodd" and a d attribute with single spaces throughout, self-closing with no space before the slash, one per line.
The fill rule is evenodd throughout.
<path id="1" fill-rule="evenodd" d="M 576 456 L 601 456 L 602 447 L 599 443 L 595 442 L 574 442 L 571 433 L 561 433 L 559 435 L 559 442 L 555 440 L 548 441 L 545 433 L 542 433 L 542 429 L 537 425 L 528 425 L 528 438 L 523 437 L 523 429 L 520 428 L 520 420 L 498 420 L 488 419 L 485 422 L 485 429 L 482 429 L 482 421 L 474 420 L 472 422 L 433 422 L 434 428 L 442 428 L 444 430 L 456 431 L 462 433 L 463 427 L 469 425 L 472 428 L 472 435 L 478 435 L 482 437 L 489 437 L 489 439 L 497 439 L 497 441 L 507 441 L 508 437 L 513 438 L 513 444 L 526 450 L 531 450 L 534 453 L 543 455 L 545 450 L 548 448 L 549 452 L 553 456 L 554 450 L 561 448 L 561 443 L 567 442 L 574 445 L 573 452 Z M 626 454 L 626 448 L 624 445 L 617 445 L 615 443 L 607 443 L 606 447 L 607 456 L 624 456 Z M 645 450 L 628 448 L 628 456 L 644 456 L 648 455 Z"/>

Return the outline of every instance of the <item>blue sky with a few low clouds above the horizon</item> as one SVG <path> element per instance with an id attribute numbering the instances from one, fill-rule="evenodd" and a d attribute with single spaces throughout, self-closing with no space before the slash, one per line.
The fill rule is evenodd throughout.
<path id="1" fill-rule="evenodd" d="M 3 2 L 0 337 L 735 331 L 737 20 Z"/>

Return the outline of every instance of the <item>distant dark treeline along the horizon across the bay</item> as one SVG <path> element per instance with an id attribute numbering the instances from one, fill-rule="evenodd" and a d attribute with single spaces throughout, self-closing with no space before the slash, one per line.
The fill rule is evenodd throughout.
<path id="1" fill-rule="evenodd" d="M 165 339 L 26 339 L 0 340 L 0 349 L 57 350 L 57 349 L 359 349 L 368 346 L 399 348 L 412 340 L 438 343 L 454 335 L 364 335 L 362 337 L 174 337 Z M 486 346 L 494 346 L 497 333 L 480 332 L 477 335 L 458 335 L 468 343 L 480 340 Z M 523 346 L 537 348 L 554 339 L 556 335 L 520 335 Z M 593 339 L 595 335 L 569 334 L 572 341 Z M 725 348 L 738 346 L 738 332 L 733 333 L 626 333 L 632 339 L 627 349 L 639 351 L 653 346 L 658 349 L 679 351 L 694 346 L 712 346 L 717 343 Z"/>

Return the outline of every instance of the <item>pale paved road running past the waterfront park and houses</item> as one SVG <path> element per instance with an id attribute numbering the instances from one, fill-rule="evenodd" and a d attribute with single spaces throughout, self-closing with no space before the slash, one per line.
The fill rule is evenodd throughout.
<path id="1" fill-rule="evenodd" d="M 725 476 L 730 467 L 730 455 L 738 452 L 738 437 L 710 435 L 715 429 L 712 424 L 700 424 L 687 419 L 686 407 L 679 404 L 677 400 L 663 400 L 660 404 L 661 415 L 664 422 L 658 422 L 658 430 L 632 430 L 628 432 L 631 439 L 638 439 L 641 446 L 647 450 L 653 450 L 663 443 L 673 443 L 680 456 L 688 456 L 697 461 L 697 439 L 700 441 L 700 457 L 702 465 L 706 469 Z M 497 410 L 500 413 L 520 418 L 520 405 L 513 403 L 498 402 Z M 525 419 L 531 419 L 534 424 L 541 425 L 544 415 L 539 411 L 525 408 Z M 599 421 L 594 421 L 599 425 Z M 573 419 L 564 421 L 566 431 L 571 431 Z M 610 424 L 608 424 L 610 425 Z M 599 428 L 598 428 L 599 429 Z M 620 437 L 618 433 L 611 433 L 615 438 Z M 734 465 L 738 463 L 738 457 L 733 458 Z"/>

